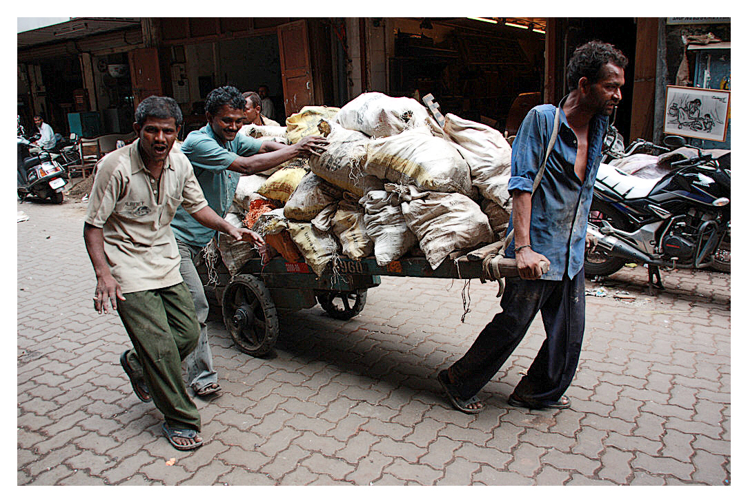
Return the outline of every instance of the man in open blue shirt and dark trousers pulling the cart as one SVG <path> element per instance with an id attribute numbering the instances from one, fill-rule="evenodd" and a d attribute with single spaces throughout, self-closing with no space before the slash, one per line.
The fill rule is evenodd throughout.
<path id="1" fill-rule="evenodd" d="M 530 409 L 565 409 L 584 333 L 584 250 L 592 187 L 607 120 L 621 100 L 626 57 L 607 43 L 578 47 L 566 69 L 570 92 L 560 103 L 560 129 L 539 187 L 533 181 L 545 158 L 556 107 L 539 105 L 525 117 L 512 144 L 512 228 L 506 256 L 516 257 L 518 278 L 507 278 L 502 312 L 485 326 L 464 357 L 438 379 L 464 413 L 484 405 L 479 389 L 501 368 L 541 312 L 546 339 L 508 403 Z M 551 268 L 542 275 L 541 262 Z"/>

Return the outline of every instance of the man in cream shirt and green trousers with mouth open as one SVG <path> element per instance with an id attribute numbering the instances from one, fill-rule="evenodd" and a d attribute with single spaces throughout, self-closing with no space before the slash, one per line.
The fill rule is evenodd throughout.
<path id="1" fill-rule="evenodd" d="M 171 150 L 182 113 L 174 99 L 150 96 L 135 111 L 138 140 L 99 161 L 91 189 L 84 238 L 96 272 L 93 306 L 111 303 L 134 349 L 120 363 L 135 395 L 164 414 L 163 430 L 175 448 L 202 445 L 200 414 L 182 380 L 182 360 L 197 345 L 200 329 L 180 275 L 180 252 L 171 220 L 182 206 L 202 225 L 262 244 L 209 208 L 191 164 Z"/>

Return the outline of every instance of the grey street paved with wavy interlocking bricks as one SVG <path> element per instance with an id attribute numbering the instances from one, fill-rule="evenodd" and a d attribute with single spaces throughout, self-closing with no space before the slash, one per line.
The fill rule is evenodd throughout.
<path id="1" fill-rule="evenodd" d="M 506 404 L 539 319 L 481 393 L 487 410 L 445 401 L 437 371 L 497 311 L 495 283 L 470 283 L 461 324 L 464 282 L 382 278 L 350 321 L 282 315 L 269 359 L 240 353 L 213 317 L 224 392 L 196 399 L 206 445 L 180 452 L 120 368 L 119 318 L 92 309 L 85 205 L 18 209 L 18 484 L 730 484 L 729 274 L 663 273 L 649 297 L 639 267 L 586 297 L 564 411 Z"/>

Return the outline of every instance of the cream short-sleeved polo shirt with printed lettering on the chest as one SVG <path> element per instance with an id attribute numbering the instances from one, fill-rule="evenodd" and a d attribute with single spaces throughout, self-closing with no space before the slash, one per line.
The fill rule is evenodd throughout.
<path id="1" fill-rule="evenodd" d="M 139 139 L 99 161 L 85 218 L 103 230 L 111 275 L 125 294 L 182 282 L 180 252 L 169 224 L 179 206 L 189 214 L 208 206 L 186 155 L 171 149 L 159 193 L 138 144 Z"/>

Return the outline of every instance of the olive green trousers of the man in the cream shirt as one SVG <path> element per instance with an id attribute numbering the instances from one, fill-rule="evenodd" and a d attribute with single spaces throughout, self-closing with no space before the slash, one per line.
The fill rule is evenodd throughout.
<path id="1" fill-rule="evenodd" d="M 134 351 L 127 359 L 142 374 L 153 404 L 171 428 L 200 431 L 200 413 L 182 379 L 182 360 L 197 345 L 200 325 L 185 283 L 131 291 L 117 300 L 117 312 Z"/>

